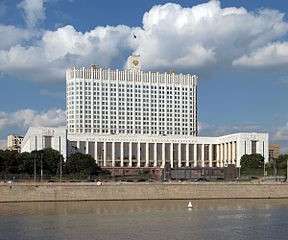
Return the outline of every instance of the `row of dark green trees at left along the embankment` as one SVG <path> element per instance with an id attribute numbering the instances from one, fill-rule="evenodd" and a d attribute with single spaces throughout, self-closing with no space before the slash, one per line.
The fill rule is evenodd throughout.
<path id="1" fill-rule="evenodd" d="M 97 176 L 103 173 L 95 159 L 88 154 L 73 153 L 64 162 L 63 156 L 52 148 L 31 153 L 0 150 L 0 175 L 67 175 Z M 106 172 L 105 172 L 106 173 Z"/>

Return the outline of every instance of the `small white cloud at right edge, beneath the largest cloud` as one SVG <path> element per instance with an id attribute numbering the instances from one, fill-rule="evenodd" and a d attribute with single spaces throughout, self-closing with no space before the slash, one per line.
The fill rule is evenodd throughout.
<path id="1" fill-rule="evenodd" d="M 235 66 L 275 67 L 288 64 L 288 42 L 273 43 L 233 61 Z"/>

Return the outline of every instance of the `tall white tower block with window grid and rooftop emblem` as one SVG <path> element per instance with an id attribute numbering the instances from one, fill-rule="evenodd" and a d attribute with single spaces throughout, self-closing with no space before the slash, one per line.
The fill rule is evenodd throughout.
<path id="1" fill-rule="evenodd" d="M 140 60 L 134 58 L 128 65 L 138 67 Z M 143 72 L 132 67 L 123 71 L 98 69 L 93 65 L 68 69 L 66 88 L 70 136 L 197 135 L 195 75 Z"/>

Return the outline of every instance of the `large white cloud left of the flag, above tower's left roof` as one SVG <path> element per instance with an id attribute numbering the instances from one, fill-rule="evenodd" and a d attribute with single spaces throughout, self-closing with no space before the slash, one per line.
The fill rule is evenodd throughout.
<path id="1" fill-rule="evenodd" d="M 68 67 L 94 62 L 109 67 L 113 59 L 121 59 L 130 34 L 129 28 L 122 25 L 97 27 L 84 34 L 72 26 L 46 31 L 33 46 L 1 50 L 0 71 L 37 82 L 64 81 Z"/>

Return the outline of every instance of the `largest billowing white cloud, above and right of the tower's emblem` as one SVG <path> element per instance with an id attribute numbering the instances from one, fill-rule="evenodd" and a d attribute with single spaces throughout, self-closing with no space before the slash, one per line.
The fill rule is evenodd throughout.
<path id="1" fill-rule="evenodd" d="M 136 52 L 147 69 L 221 69 L 287 32 L 284 14 L 276 10 L 250 13 L 244 8 L 221 8 L 220 1 L 192 8 L 168 3 L 145 13 Z"/>

